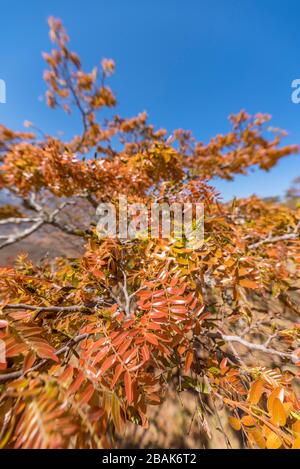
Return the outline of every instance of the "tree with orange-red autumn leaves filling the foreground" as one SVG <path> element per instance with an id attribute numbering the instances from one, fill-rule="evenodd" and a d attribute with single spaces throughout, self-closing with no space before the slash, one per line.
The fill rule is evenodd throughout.
<path id="1" fill-rule="evenodd" d="M 128 421 L 147 427 L 173 383 L 197 396 L 203 426 L 206 399 L 226 406 L 249 447 L 299 448 L 299 207 L 223 203 L 211 181 L 268 170 L 297 146 L 245 111 L 208 144 L 170 137 L 146 113 L 100 119 L 116 105 L 114 62 L 85 73 L 61 22 L 49 25 L 48 105 L 77 109 L 83 130 L 64 141 L 29 122 L 30 132 L 0 127 L 0 188 L 20 201 L 0 208 L 0 248 L 50 225 L 85 252 L 22 255 L 0 270 L 1 446 L 111 447 Z M 96 208 L 119 194 L 201 201 L 204 243 L 99 238 Z"/>

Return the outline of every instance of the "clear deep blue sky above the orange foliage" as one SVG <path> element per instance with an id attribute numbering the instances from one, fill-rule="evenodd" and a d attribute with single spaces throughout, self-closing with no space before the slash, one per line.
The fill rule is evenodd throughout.
<path id="1" fill-rule="evenodd" d="M 230 113 L 268 112 L 289 131 L 286 142 L 300 144 L 300 104 L 291 101 L 291 82 L 300 78 L 298 0 L 1 0 L 0 7 L 7 86 L 0 122 L 9 127 L 27 119 L 47 132 L 78 130 L 77 119 L 39 99 L 41 51 L 51 47 L 46 20 L 54 15 L 87 70 L 103 57 L 115 60 L 118 113 L 146 110 L 157 127 L 190 129 L 207 141 L 229 129 Z M 269 173 L 216 186 L 225 199 L 282 195 L 300 175 L 299 161 L 291 156 Z"/>

